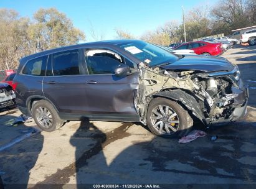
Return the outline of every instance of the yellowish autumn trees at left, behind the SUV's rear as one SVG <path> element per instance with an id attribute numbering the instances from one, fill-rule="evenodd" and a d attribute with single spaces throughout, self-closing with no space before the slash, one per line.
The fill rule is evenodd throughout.
<path id="1" fill-rule="evenodd" d="M 85 34 L 57 9 L 39 9 L 32 19 L 0 9 L 0 70 L 15 69 L 19 59 L 50 48 L 77 44 Z"/>

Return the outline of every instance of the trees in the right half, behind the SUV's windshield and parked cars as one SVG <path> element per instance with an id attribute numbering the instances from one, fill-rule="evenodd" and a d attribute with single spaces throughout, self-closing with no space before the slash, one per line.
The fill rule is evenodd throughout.
<path id="1" fill-rule="evenodd" d="M 201 5 L 185 11 L 186 39 L 222 34 L 230 35 L 231 30 L 256 25 L 256 0 L 219 0 L 214 6 Z M 183 23 L 168 21 L 155 30 L 135 37 L 126 30 L 118 29 L 120 39 L 140 38 L 159 45 L 184 42 Z"/>

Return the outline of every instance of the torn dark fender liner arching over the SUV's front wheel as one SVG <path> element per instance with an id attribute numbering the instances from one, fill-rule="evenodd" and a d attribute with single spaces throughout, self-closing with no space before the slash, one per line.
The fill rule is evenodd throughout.
<path id="1" fill-rule="evenodd" d="M 192 112 L 192 114 L 196 116 L 196 118 L 198 118 L 200 121 L 202 121 L 203 124 L 206 125 L 206 118 L 204 117 L 204 114 L 201 111 L 198 101 L 194 98 L 194 96 L 191 96 L 185 91 L 179 89 L 161 91 L 159 93 L 154 94 L 153 97 L 163 97 L 172 99 L 174 101 L 178 101 L 179 103 L 186 106 L 186 108 L 189 109 Z"/>

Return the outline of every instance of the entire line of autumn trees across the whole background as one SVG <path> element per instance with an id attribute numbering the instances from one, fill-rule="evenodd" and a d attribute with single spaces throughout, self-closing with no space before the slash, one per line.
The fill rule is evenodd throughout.
<path id="1" fill-rule="evenodd" d="M 256 25 L 256 0 L 219 0 L 213 7 L 192 7 L 185 11 L 185 23 L 188 41 L 220 33 L 229 35 L 232 29 Z M 184 41 L 183 23 L 178 21 L 168 21 L 140 37 L 128 30 L 115 30 L 118 39 L 142 39 L 159 45 Z M 92 24 L 90 33 L 93 39 L 103 38 L 96 36 Z M 17 68 L 19 59 L 31 53 L 85 40 L 84 32 L 55 8 L 39 9 L 32 19 L 0 9 L 0 34 L 0 70 Z"/>

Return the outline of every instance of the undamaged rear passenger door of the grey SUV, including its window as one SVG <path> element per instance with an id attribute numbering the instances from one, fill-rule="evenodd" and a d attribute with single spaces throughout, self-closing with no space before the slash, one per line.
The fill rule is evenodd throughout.
<path id="1" fill-rule="evenodd" d="M 87 108 L 85 78 L 80 67 L 80 50 L 50 55 L 44 78 L 44 96 L 60 113 L 83 114 Z"/>

